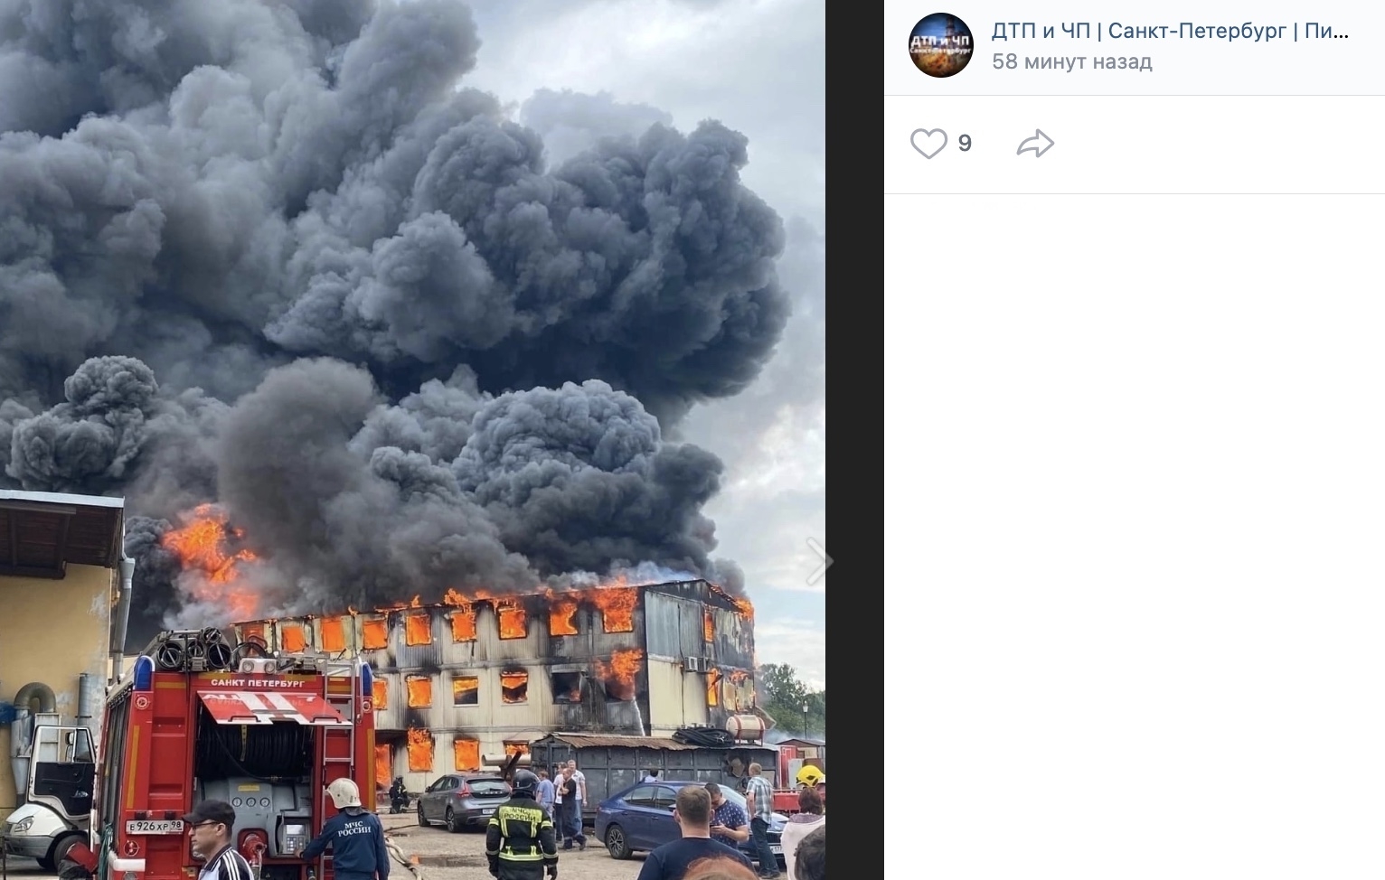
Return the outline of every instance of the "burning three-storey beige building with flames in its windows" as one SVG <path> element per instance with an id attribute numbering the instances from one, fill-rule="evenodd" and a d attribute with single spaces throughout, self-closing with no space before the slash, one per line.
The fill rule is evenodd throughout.
<path id="1" fill-rule="evenodd" d="M 420 790 L 548 733 L 669 736 L 753 711 L 753 614 L 708 581 L 463 596 L 234 625 L 270 650 L 361 652 L 375 776 Z"/>

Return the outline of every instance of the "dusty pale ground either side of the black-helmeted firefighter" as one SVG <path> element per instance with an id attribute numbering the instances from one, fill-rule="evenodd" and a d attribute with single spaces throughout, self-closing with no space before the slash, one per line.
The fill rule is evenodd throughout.
<path id="1" fill-rule="evenodd" d="M 453 834 L 442 826 L 418 827 L 414 815 L 379 814 L 385 830 L 404 855 L 417 855 L 424 880 L 489 880 L 486 870 L 486 836 L 479 830 Z M 644 854 L 626 861 L 611 858 L 605 847 L 587 837 L 586 852 L 558 851 L 558 880 L 634 880 L 644 865 Z M 404 880 L 407 872 L 395 865 L 392 880 Z"/>

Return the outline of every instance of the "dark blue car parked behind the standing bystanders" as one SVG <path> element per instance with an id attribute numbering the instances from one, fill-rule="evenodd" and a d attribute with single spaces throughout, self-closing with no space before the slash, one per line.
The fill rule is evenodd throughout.
<path id="1" fill-rule="evenodd" d="M 677 822 L 673 821 L 673 801 L 684 786 L 704 786 L 705 782 L 669 779 L 641 782 L 612 794 L 597 807 L 597 838 L 605 844 L 611 858 L 627 859 L 633 852 L 648 852 L 655 847 L 681 837 Z M 745 797 L 735 789 L 722 786 L 726 800 L 745 809 Z M 788 816 L 774 814 L 770 822 L 770 851 L 784 863 L 784 847 L 780 836 Z M 723 841 L 724 843 L 724 841 Z M 755 848 L 747 838 L 740 844 L 745 858 L 755 862 Z"/>

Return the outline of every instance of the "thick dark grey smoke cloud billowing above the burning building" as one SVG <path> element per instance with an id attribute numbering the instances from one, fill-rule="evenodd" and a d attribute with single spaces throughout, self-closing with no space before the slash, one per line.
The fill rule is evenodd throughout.
<path id="1" fill-rule="evenodd" d="M 661 423 L 787 321 L 747 141 L 648 108 L 548 167 L 479 46 L 453 0 L 0 0 L 0 483 L 130 498 L 132 642 L 212 613 L 158 541 L 201 502 L 284 610 L 740 588 Z"/>

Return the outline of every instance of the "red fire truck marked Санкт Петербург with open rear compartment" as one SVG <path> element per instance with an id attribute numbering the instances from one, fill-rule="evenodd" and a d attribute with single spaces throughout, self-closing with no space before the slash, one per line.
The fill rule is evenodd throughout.
<path id="1" fill-rule="evenodd" d="M 330 880 L 330 856 L 298 854 L 337 812 L 328 783 L 375 790 L 371 678 L 359 657 L 161 634 L 107 697 L 91 847 L 69 858 L 97 880 L 197 876 L 183 815 L 222 800 L 262 880 Z"/>

